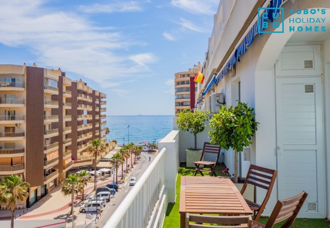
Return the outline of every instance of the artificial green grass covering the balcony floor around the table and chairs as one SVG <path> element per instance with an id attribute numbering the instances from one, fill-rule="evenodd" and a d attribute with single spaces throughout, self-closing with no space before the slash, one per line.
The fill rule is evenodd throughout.
<path id="1" fill-rule="evenodd" d="M 175 204 L 169 204 L 166 217 L 164 220 L 163 228 L 178 228 L 180 227 L 180 213 L 179 213 L 179 199 L 180 199 L 180 184 L 181 184 L 181 176 L 192 176 L 194 173 L 194 169 L 191 168 L 180 168 L 178 179 L 177 179 L 177 198 Z M 209 175 L 208 173 L 203 173 L 204 175 Z M 219 169 L 216 170 L 217 175 L 221 175 Z M 200 176 L 200 174 L 199 174 Z M 267 217 L 261 217 L 259 219 L 260 222 L 266 223 L 268 220 Z M 274 228 L 279 228 L 284 223 L 280 222 L 275 224 Z M 291 227 L 300 227 L 300 228 L 322 228 L 322 227 L 330 227 L 330 223 L 325 221 L 324 219 L 316 219 L 316 218 L 297 218 Z"/>

